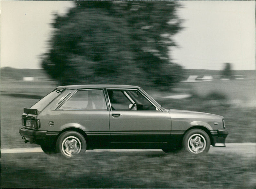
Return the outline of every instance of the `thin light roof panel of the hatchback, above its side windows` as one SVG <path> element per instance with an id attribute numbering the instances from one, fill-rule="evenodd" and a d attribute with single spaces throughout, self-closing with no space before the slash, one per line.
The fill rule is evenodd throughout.
<path id="1" fill-rule="evenodd" d="M 87 88 L 140 88 L 133 85 L 66 85 L 59 86 L 56 88 L 66 88 L 68 90 L 72 89 L 87 89 Z"/>

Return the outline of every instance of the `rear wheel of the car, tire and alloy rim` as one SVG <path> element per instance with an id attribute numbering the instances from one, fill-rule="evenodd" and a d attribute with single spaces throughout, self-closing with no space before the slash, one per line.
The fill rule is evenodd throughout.
<path id="1" fill-rule="evenodd" d="M 81 155 L 86 150 L 86 141 L 79 132 L 66 131 L 59 136 L 56 142 L 56 150 L 68 158 Z"/>

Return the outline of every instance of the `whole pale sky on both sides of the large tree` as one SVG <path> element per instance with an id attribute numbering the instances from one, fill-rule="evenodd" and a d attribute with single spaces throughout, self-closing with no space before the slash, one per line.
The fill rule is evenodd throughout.
<path id="1" fill-rule="evenodd" d="M 172 62 L 186 69 L 255 70 L 255 1 L 180 1 L 184 29 L 174 36 Z M 41 68 L 54 12 L 70 1 L 0 1 L 0 66 Z"/>

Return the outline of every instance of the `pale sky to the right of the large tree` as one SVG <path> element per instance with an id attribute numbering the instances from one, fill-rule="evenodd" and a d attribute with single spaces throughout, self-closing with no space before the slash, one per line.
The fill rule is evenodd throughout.
<path id="1" fill-rule="evenodd" d="M 255 69 L 255 1 L 186 1 L 171 58 L 188 69 Z"/>

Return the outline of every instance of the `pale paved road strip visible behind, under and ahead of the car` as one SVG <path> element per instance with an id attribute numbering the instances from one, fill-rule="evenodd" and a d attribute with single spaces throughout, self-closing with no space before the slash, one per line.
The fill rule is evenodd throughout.
<path id="1" fill-rule="evenodd" d="M 140 152 L 140 151 L 162 151 L 161 149 L 111 149 L 111 150 L 86 150 L 86 152 Z M 38 153 L 43 152 L 41 147 L 34 148 L 13 148 L 1 149 L 1 154 L 7 153 Z M 256 143 L 226 143 L 226 147 L 212 147 L 209 153 L 235 153 L 244 154 L 248 156 L 256 155 Z"/>

